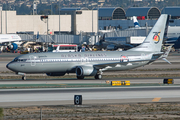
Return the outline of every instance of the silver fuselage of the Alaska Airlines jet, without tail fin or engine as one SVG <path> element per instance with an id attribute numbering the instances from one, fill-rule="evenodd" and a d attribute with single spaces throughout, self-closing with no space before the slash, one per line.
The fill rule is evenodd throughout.
<path id="1" fill-rule="evenodd" d="M 152 54 L 149 52 L 126 51 L 32 53 L 16 57 L 7 67 L 14 72 L 22 73 L 74 73 L 77 66 L 94 66 L 101 69 L 100 66 L 96 66 L 98 64 L 107 64 L 102 70 L 128 70 L 143 66 L 149 61 L 126 62 L 151 58 Z M 118 65 L 118 62 L 121 64 Z"/>

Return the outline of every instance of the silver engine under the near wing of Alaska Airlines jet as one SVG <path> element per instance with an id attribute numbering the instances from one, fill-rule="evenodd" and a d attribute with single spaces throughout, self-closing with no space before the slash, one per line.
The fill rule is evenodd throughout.
<path id="1" fill-rule="evenodd" d="M 93 66 L 78 66 L 76 67 L 77 76 L 95 76 L 97 70 Z"/>

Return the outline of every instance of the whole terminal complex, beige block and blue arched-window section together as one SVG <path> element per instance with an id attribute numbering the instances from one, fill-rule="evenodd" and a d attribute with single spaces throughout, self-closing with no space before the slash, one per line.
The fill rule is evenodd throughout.
<path id="1" fill-rule="evenodd" d="M 0 11 L 0 33 L 33 33 L 79 35 L 97 33 L 98 30 L 126 29 L 133 27 L 132 17 L 137 16 L 140 26 L 154 26 L 161 14 L 170 14 L 170 26 L 180 26 L 180 7 L 121 7 L 62 8 L 60 15 L 17 15 L 16 11 Z"/>

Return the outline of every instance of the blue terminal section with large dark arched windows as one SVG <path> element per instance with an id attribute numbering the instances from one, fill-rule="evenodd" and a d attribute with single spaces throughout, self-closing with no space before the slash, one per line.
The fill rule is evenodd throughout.
<path id="1" fill-rule="evenodd" d="M 101 10 L 101 8 L 99 9 Z M 123 10 L 123 8 L 121 9 L 122 9 L 121 11 L 125 11 Z M 114 8 L 114 11 L 116 11 L 116 8 Z M 104 10 L 104 13 L 105 12 L 106 10 Z M 125 18 L 124 18 L 124 14 L 125 14 Z M 114 12 L 112 11 L 111 14 L 107 16 L 107 18 L 111 17 L 112 19 L 105 19 L 105 18 L 99 19 L 99 25 L 98 25 L 99 30 L 107 30 L 111 28 L 127 29 L 134 27 L 134 24 L 132 22 L 133 16 L 137 16 L 138 22 L 141 27 L 145 27 L 146 25 L 149 27 L 153 27 L 161 14 L 171 15 L 171 19 L 169 23 L 170 26 L 180 26 L 180 20 L 179 20 L 180 7 L 165 7 L 162 11 L 159 10 L 157 7 L 131 7 L 127 9 L 127 11 L 124 12 L 124 14 L 119 14 L 121 15 L 121 17 L 116 17 L 119 19 L 113 19 L 113 17 L 111 16 L 114 16 Z M 102 18 L 101 14 L 99 14 L 99 18 Z"/>

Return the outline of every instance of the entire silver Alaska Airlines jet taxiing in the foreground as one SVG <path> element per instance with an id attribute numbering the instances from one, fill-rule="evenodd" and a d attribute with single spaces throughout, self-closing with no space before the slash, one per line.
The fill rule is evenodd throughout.
<path id="1" fill-rule="evenodd" d="M 16 57 L 6 67 L 26 80 L 26 74 L 46 73 L 48 76 L 63 76 L 76 73 L 77 79 L 94 76 L 102 79 L 103 71 L 129 70 L 148 65 L 163 58 L 161 52 L 169 15 L 162 14 L 144 42 L 127 51 L 88 51 L 69 53 L 30 53 Z"/>

